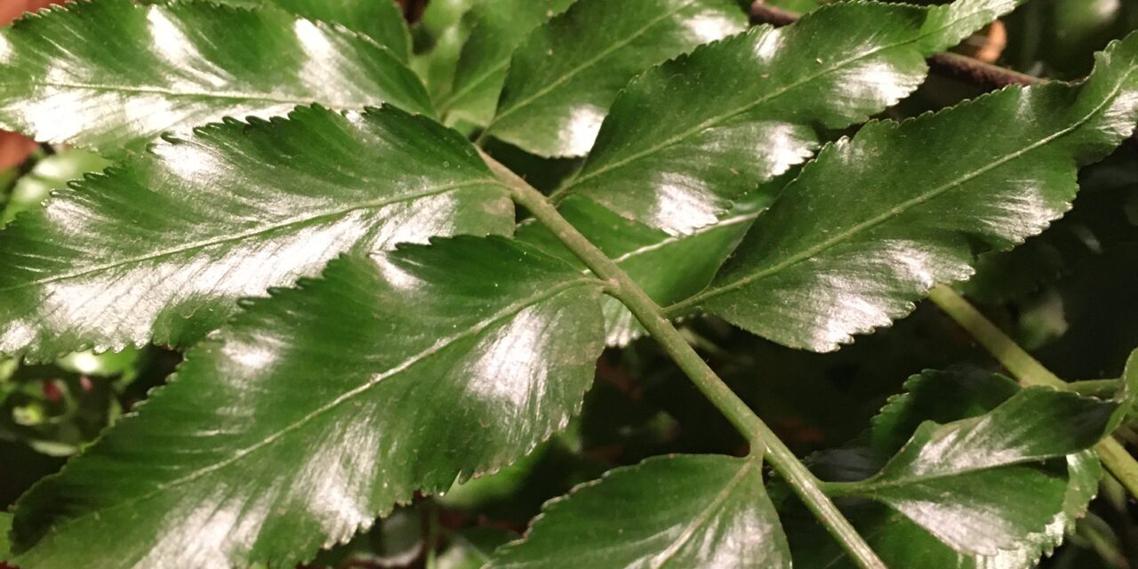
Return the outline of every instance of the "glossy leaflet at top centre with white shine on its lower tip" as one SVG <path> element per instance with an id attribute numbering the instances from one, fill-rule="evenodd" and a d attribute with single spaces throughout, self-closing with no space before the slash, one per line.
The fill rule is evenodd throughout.
<path id="1" fill-rule="evenodd" d="M 628 80 L 745 25 L 729 0 L 578 0 L 514 51 L 486 130 L 539 156 L 584 156 Z"/>

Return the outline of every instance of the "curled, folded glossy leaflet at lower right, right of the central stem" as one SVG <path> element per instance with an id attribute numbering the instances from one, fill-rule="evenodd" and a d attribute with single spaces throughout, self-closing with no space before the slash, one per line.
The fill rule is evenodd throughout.
<path id="1" fill-rule="evenodd" d="M 1116 409 L 1030 387 L 984 415 L 922 423 L 856 494 L 890 505 L 959 552 L 996 555 L 1063 511 L 1066 468 L 1033 463 L 1098 443 Z"/>

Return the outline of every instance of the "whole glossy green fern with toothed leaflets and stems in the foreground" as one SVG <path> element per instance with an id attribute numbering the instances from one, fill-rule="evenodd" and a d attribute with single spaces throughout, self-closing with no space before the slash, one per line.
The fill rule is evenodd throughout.
<path id="1" fill-rule="evenodd" d="M 728 0 L 484 2 L 448 28 L 453 72 L 411 61 L 427 85 L 394 5 L 223 3 L 93 0 L 0 33 L 0 123 L 118 159 L 0 231 L 0 353 L 188 348 L 19 501 L 19 567 L 294 566 L 527 455 L 641 335 L 750 453 L 616 469 L 488 567 L 1030 567 L 1094 496 L 1090 448 L 1138 486 L 1108 438 L 1138 362 L 1079 395 L 933 288 L 1061 217 L 1130 135 L 1138 36 L 1081 83 L 836 138 L 1020 2 L 750 30 Z M 584 159 L 547 197 L 470 139 Z M 823 352 L 930 290 L 1052 385 L 925 372 L 814 472 L 671 320 Z"/>

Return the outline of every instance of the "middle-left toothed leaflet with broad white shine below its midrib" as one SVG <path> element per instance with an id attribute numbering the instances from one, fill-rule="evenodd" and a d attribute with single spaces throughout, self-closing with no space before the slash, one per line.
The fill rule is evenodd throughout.
<path id="1" fill-rule="evenodd" d="M 236 298 L 340 253 L 512 226 L 511 201 L 470 143 L 428 118 L 302 107 L 226 119 L 0 231 L 0 353 L 185 346 Z"/>

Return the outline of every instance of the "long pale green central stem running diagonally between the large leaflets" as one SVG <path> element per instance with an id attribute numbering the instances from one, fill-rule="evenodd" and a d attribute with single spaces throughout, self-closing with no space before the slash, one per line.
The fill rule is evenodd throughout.
<path id="1" fill-rule="evenodd" d="M 716 374 L 707 362 L 663 316 L 663 311 L 630 277 L 588 238 L 580 234 L 556 207 L 529 183 L 494 158 L 483 155 L 494 174 L 510 189 L 514 201 L 525 207 L 564 244 L 593 273 L 607 283 L 607 292 L 625 304 L 665 352 L 691 378 L 695 387 L 711 401 L 728 421 L 751 444 L 752 454 L 762 455 L 798 494 L 802 503 L 822 520 L 826 529 L 849 552 L 863 569 L 885 569 L 838 506 L 822 492 L 819 480 L 794 456 L 747 403 Z"/>

